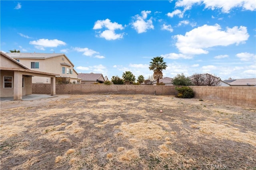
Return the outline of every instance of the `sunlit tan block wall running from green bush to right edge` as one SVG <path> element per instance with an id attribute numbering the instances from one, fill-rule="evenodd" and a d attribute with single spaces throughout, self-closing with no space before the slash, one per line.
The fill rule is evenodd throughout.
<path id="1" fill-rule="evenodd" d="M 190 86 L 195 98 L 256 108 L 256 87 L 250 86 Z"/>

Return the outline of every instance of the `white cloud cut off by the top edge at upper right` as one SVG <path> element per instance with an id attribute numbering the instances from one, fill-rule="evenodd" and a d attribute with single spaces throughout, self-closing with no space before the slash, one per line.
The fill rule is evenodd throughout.
<path id="1" fill-rule="evenodd" d="M 232 8 L 242 8 L 242 10 L 254 11 L 256 9 L 255 0 L 179 0 L 176 2 L 176 7 L 184 7 L 184 10 L 189 10 L 194 4 L 204 4 L 204 8 L 211 10 L 221 9 L 223 13 L 229 13 Z"/>

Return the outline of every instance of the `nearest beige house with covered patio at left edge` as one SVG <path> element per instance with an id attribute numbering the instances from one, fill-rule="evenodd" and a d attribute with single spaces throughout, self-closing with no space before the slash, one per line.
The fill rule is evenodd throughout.
<path id="1" fill-rule="evenodd" d="M 0 51 L 0 97 L 13 97 L 21 100 L 22 96 L 32 94 L 32 77 L 39 76 L 51 80 L 51 95 L 56 94 L 56 76 L 52 74 L 30 70 L 24 64 Z"/>

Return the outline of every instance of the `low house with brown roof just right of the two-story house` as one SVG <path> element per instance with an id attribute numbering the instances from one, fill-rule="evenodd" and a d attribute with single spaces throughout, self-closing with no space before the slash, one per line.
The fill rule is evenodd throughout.
<path id="1" fill-rule="evenodd" d="M 95 73 L 78 73 L 78 78 L 81 78 L 81 84 L 104 83 L 105 79 L 102 74 Z"/>

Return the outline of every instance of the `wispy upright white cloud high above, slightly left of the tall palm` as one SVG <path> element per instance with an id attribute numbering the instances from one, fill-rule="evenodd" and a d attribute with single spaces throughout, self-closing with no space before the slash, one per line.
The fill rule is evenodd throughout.
<path id="1" fill-rule="evenodd" d="M 152 18 L 149 20 L 146 20 L 148 14 L 150 14 L 151 11 L 142 11 L 141 16 L 136 15 L 134 16 L 135 21 L 132 22 L 132 27 L 138 32 L 138 33 L 144 33 L 148 29 L 154 29 L 154 25 L 152 22 Z"/>

